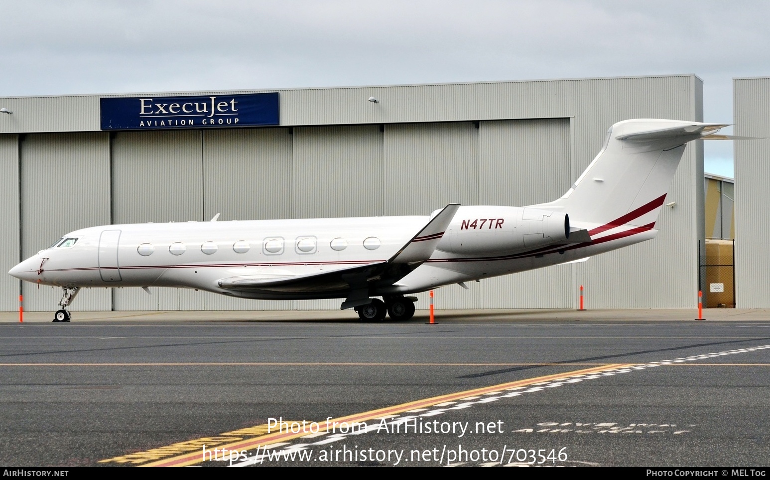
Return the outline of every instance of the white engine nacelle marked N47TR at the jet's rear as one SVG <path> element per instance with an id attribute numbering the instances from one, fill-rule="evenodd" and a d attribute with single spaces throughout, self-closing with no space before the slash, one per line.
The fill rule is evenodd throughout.
<path id="1" fill-rule="evenodd" d="M 562 243 L 567 213 L 519 206 L 460 206 L 437 250 L 459 254 L 517 253 Z"/>

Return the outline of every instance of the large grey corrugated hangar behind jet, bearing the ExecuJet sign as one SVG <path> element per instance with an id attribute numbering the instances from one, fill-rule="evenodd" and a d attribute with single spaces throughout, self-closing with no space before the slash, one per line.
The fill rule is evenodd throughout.
<path id="1" fill-rule="evenodd" d="M 159 99 L 171 109 L 170 97 L 219 102 L 261 93 L 276 102 L 272 123 L 152 117 Z M 613 123 L 701 121 L 702 98 L 694 75 L 0 98 L 12 112 L 0 115 L 0 310 L 17 308 L 20 289 L 26 310 L 56 309 L 60 289 L 20 285 L 5 272 L 71 230 L 217 213 L 220 221 L 355 217 L 428 214 L 450 202 L 547 202 L 588 166 Z M 120 99 L 152 100 L 144 100 L 144 118 L 115 120 L 125 113 Z M 687 146 L 667 201 L 675 206 L 663 208 L 655 240 L 470 290 L 444 287 L 437 307 L 574 307 L 580 285 L 591 308 L 694 307 L 705 232 L 700 141 Z M 72 310 L 340 305 L 151 290 L 84 290 Z"/>

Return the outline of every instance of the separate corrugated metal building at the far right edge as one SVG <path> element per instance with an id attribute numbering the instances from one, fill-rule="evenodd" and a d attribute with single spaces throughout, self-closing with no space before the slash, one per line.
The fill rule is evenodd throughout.
<path id="1" fill-rule="evenodd" d="M 735 302 L 738 308 L 770 308 L 770 78 L 733 80 L 735 135 Z"/>

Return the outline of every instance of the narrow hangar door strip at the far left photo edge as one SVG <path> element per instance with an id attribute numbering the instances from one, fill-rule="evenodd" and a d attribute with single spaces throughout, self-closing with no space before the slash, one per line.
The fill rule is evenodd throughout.
<path id="1" fill-rule="evenodd" d="M 0 250 L 0 311 L 10 311 L 18 308 L 19 280 L 5 272 L 22 260 L 18 244 L 17 135 L 0 135 L 0 171 L 0 232 L 4 245 Z"/>

